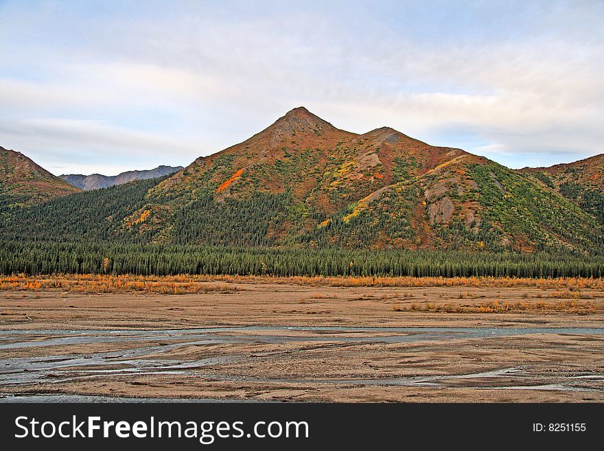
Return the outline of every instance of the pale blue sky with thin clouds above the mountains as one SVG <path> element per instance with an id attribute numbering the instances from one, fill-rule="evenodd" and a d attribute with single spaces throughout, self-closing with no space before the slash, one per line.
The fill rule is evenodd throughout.
<path id="1" fill-rule="evenodd" d="M 511 167 L 604 152 L 604 1 L 0 0 L 0 146 L 187 165 L 296 106 Z"/>

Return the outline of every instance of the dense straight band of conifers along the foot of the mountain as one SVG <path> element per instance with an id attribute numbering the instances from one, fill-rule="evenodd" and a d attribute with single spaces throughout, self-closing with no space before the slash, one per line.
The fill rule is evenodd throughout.
<path id="1" fill-rule="evenodd" d="M 602 277 L 604 257 L 0 240 L 0 273 Z"/>

